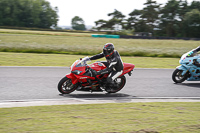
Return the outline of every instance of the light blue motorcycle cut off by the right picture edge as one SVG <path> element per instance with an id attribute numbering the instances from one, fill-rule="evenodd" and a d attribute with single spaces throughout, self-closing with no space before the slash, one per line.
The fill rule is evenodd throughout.
<path id="1" fill-rule="evenodd" d="M 176 67 L 172 74 L 175 83 L 187 81 L 200 81 L 200 54 L 191 50 L 182 55 L 179 60 L 180 66 Z"/>

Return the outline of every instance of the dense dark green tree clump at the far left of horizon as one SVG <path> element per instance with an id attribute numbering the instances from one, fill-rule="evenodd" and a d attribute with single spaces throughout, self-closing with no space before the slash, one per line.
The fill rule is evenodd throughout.
<path id="1" fill-rule="evenodd" d="M 57 11 L 45 0 L 0 0 L 0 26 L 50 28 Z"/>

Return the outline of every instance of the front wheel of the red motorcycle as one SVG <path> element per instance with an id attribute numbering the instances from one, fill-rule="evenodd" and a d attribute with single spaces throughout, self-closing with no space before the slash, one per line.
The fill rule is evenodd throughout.
<path id="1" fill-rule="evenodd" d="M 75 91 L 78 87 L 78 84 L 72 84 L 71 79 L 64 77 L 58 83 L 58 91 L 62 94 L 69 94 Z"/>

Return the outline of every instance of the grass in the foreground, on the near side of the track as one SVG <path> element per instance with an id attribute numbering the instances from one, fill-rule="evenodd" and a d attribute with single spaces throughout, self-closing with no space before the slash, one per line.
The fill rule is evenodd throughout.
<path id="1" fill-rule="evenodd" d="M 199 133 L 199 103 L 116 103 L 0 109 L 7 133 Z"/>

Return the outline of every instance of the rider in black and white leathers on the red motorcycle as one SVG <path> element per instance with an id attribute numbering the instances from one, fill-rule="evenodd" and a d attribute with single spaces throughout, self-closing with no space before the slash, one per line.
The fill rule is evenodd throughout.
<path id="1" fill-rule="evenodd" d="M 107 77 L 107 86 L 109 86 L 110 91 L 115 86 L 114 80 L 119 77 L 124 69 L 123 62 L 119 53 L 114 50 L 114 45 L 112 43 L 106 43 L 103 47 L 103 52 L 90 57 L 90 60 L 96 60 L 105 57 L 107 62 L 102 62 L 107 67 L 104 70 L 95 71 L 92 69 L 94 77 L 96 75 L 110 73 Z"/>

